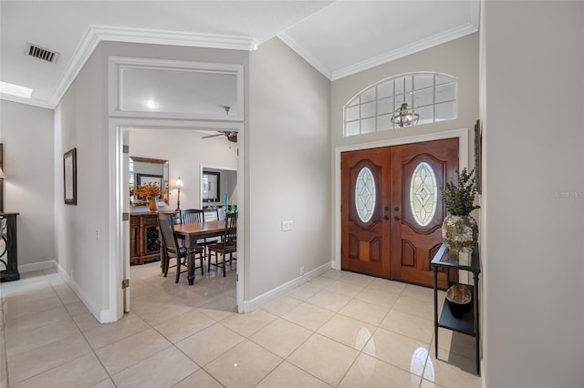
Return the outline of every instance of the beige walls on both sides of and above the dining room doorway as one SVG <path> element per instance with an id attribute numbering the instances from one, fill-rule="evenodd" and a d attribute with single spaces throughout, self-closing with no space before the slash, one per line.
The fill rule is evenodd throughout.
<path id="1" fill-rule="evenodd" d="M 329 81 L 278 39 L 253 53 L 102 43 L 56 109 L 56 152 L 78 148 L 78 206 L 57 207 L 57 254 L 90 311 L 102 321 L 109 298 L 109 56 L 235 63 L 245 66 L 245 301 L 330 260 Z M 248 66 L 248 56 L 250 59 Z M 131 147 L 131 144 L 130 144 Z M 220 165 L 219 163 L 217 163 Z M 171 167 L 171 174 L 176 170 Z M 58 177 L 57 177 L 58 179 Z M 172 179 L 172 177 L 171 177 Z M 57 185 L 62 184 L 58 183 Z M 57 190 L 56 190 L 57 192 Z M 62 192 L 57 192 L 62 195 Z M 183 197 L 183 195 L 182 195 Z M 242 205 L 242 204 L 240 204 Z M 292 231 L 280 222 L 292 220 Z M 100 230 L 100 240 L 96 230 Z M 325 241 L 325 243 L 323 243 Z M 298 254 L 301 249 L 302 254 Z M 105 317 L 105 318 L 104 318 Z"/>

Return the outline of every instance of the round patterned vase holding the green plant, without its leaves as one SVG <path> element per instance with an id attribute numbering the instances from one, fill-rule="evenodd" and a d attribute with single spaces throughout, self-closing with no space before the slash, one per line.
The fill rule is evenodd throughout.
<path id="1" fill-rule="evenodd" d="M 442 223 L 442 237 L 449 250 L 470 252 L 478 240 L 478 225 L 471 216 L 448 215 Z"/>

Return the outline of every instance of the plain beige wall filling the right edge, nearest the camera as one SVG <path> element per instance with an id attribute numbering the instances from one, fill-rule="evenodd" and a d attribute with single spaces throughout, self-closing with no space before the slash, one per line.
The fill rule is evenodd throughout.
<path id="1" fill-rule="evenodd" d="M 584 3 L 483 4 L 486 387 L 584 386 Z"/>

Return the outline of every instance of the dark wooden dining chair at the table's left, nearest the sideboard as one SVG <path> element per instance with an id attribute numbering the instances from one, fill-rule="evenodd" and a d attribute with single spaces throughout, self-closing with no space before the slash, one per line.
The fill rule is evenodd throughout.
<path id="1" fill-rule="evenodd" d="M 179 246 L 178 240 L 176 238 L 176 232 L 174 231 L 174 216 L 172 214 L 163 214 L 158 213 L 158 223 L 161 230 L 162 236 L 162 247 L 161 249 L 164 250 L 164 262 L 162 263 L 163 266 L 163 273 L 164 277 L 168 274 L 169 268 L 176 267 L 176 280 L 175 283 L 179 282 L 179 278 L 182 272 L 181 267 L 184 265 L 186 266 L 186 257 L 187 257 L 187 250 L 185 247 Z M 194 249 L 194 262 L 196 264 L 197 255 L 199 256 L 199 260 L 201 263 L 201 274 L 204 274 L 204 265 L 203 265 L 203 247 L 195 247 Z M 170 260 L 176 259 L 175 265 L 170 265 Z M 195 266 L 195 270 L 199 268 Z"/>

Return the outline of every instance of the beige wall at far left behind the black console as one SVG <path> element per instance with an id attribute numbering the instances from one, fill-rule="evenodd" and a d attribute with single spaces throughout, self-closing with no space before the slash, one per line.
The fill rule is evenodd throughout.
<path id="1" fill-rule="evenodd" d="M 45 261 L 55 259 L 55 201 L 62 197 L 53 191 L 53 134 L 53 110 L 0 100 L 4 209 L 20 213 L 19 271 L 47 268 L 52 264 Z"/>

